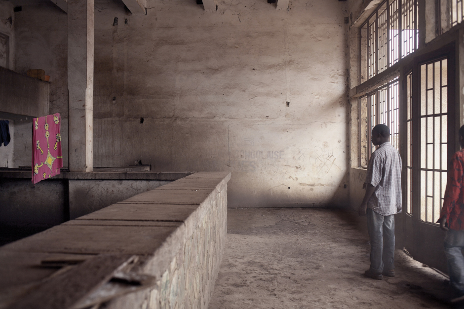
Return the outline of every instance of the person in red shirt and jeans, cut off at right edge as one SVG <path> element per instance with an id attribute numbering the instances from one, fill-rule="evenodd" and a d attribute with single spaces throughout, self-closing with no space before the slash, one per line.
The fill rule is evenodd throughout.
<path id="1" fill-rule="evenodd" d="M 461 150 L 453 154 L 448 169 L 445 199 L 440 212 L 440 229 L 446 232 L 444 240 L 445 255 L 451 286 L 464 300 L 464 125 L 459 129 Z"/>

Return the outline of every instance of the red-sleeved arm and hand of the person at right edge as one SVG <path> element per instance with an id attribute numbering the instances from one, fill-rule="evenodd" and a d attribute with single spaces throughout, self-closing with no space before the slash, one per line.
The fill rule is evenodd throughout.
<path id="1" fill-rule="evenodd" d="M 440 229 L 448 231 L 445 224 L 450 222 L 450 214 L 455 205 L 458 203 L 459 195 L 463 181 L 463 165 L 457 155 L 453 155 L 450 167 L 448 170 L 448 181 L 446 183 L 445 198 L 443 207 L 440 212 L 440 219 L 437 223 L 440 224 Z"/>

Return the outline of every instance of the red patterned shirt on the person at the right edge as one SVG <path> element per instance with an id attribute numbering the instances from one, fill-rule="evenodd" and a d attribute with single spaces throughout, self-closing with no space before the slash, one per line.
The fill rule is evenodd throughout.
<path id="1" fill-rule="evenodd" d="M 445 200 L 440 212 L 440 219 L 445 217 L 448 228 L 464 230 L 464 150 L 453 154 L 448 169 Z"/>

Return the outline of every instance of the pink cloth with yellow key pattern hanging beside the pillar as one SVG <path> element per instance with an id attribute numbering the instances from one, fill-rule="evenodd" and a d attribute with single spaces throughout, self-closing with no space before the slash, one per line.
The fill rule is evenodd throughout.
<path id="1" fill-rule="evenodd" d="M 32 182 L 53 177 L 63 167 L 59 113 L 34 118 L 32 123 Z"/>

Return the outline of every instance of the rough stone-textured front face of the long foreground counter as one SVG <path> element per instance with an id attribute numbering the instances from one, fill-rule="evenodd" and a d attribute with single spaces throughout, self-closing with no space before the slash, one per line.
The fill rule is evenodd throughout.
<path id="1" fill-rule="evenodd" d="M 146 294 L 147 308 L 208 308 L 226 244 L 227 187 L 209 207 L 157 287 Z M 110 308 L 125 307 L 115 304 Z"/>

